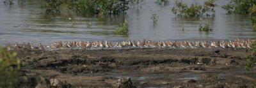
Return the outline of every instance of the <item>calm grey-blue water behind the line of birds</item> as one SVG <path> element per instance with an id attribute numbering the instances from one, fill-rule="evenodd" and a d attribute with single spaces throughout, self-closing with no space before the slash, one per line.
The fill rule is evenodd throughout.
<path id="1" fill-rule="evenodd" d="M 211 32 L 199 32 L 200 18 L 177 18 L 171 8 L 174 1 L 167 6 L 144 0 L 141 5 L 132 7 L 127 15 L 108 16 L 105 21 L 98 21 L 95 16 L 74 16 L 72 13 L 47 15 L 39 0 L 26 1 L 24 4 L 8 6 L 0 1 L 0 44 L 7 43 L 43 43 L 52 41 L 80 40 L 228 40 L 234 38 L 255 38 L 250 18 L 243 15 L 226 15 L 220 8 L 228 3 L 218 0 L 216 16 L 207 17 L 213 28 Z M 184 2 L 204 3 L 202 0 L 185 0 Z M 140 8 L 141 7 L 141 8 Z M 159 10 L 159 11 L 157 11 Z M 159 15 L 157 24 L 150 17 Z M 129 35 L 115 35 L 116 27 L 126 17 L 129 20 Z M 71 20 L 69 20 L 71 18 Z M 205 17 L 202 18 L 205 20 Z M 92 27 L 86 24 L 92 22 Z M 184 31 L 182 31 L 184 26 Z"/>

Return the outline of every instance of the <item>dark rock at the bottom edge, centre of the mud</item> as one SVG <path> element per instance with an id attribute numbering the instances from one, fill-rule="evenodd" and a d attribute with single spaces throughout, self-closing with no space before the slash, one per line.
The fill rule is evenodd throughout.
<path id="1" fill-rule="evenodd" d="M 119 78 L 117 82 L 113 84 L 114 88 L 135 88 L 132 84 L 131 78 Z"/>

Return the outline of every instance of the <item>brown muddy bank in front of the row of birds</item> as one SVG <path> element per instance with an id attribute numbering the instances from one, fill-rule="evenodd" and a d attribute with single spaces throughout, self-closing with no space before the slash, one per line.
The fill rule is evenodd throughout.
<path id="1" fill-rule="evenodd" d="M 219 52 L 220 50 L 220 52 Z M 245 49 L 18 50 L 19 87 L 113 87 L 130 77 L 136 87 L 256 87 L 244 70 Z"/>

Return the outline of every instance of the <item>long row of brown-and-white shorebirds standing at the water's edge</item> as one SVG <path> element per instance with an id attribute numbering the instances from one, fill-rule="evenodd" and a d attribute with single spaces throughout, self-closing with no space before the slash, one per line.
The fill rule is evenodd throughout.
<path id="1" fill-rule="evenodd" d="M 59 49 L 108 49 L 108 48 L 252 48 L 253 39 L 229 40 L 229 41 L 62 41 L 53 42 L 51 46 L 44 46 L 41 43 L 35 47 L 30 43 L 15 43 L 13 47 L 11 44 L 6 45 L 8 50 L 15 49 L 40 49 L 49 48 L 50 50 Z"/>

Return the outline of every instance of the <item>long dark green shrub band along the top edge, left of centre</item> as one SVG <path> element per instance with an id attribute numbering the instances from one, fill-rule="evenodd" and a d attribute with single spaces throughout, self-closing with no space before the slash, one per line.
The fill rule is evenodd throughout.
<path id="1" fill-rule="evenodd" d="M 71 10 L 81 14 L 121 14 L 128 10 L 125 0 L 45 0 L 46 11 Z"/>

